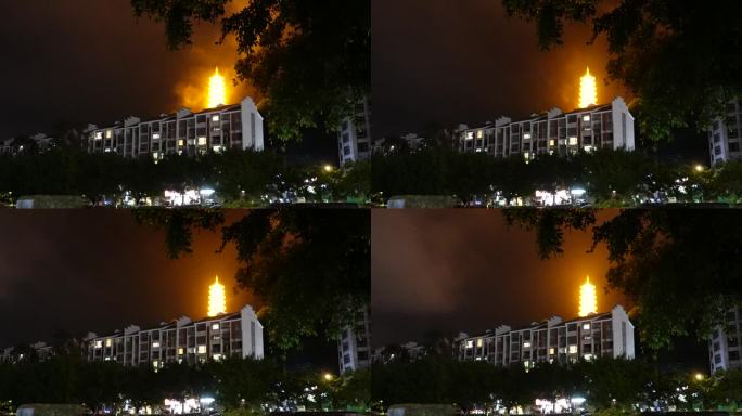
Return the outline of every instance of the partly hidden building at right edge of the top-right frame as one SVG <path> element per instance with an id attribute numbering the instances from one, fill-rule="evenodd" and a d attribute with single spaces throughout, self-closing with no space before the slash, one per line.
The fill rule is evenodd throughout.
<path id="1" fill-rule="evenodd" d="M 725 116 L 718 117 L 712 123 L 708 132 L 708 153 L 712 166 L 727 161 L 742 159 L 740 150 L 740 129 L 742 129 L 742 102 L 731 100 L 725 107 Z"/>

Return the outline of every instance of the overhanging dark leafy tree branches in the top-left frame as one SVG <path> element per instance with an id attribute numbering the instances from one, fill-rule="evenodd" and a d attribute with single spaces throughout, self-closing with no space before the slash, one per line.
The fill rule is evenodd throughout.
<path id="1" fill-rule="evenodd" d="M 371 17 L 366 0 L 254 0 L 227 14 L 229 0 L 131 0 L 137 16 L 165 22 L 172 49 L 191 43 L 193 24 L 221 18 L 234 36 L 238 78 L 265 95 L 270 130 L 334 128 L 369 95 Z"/>

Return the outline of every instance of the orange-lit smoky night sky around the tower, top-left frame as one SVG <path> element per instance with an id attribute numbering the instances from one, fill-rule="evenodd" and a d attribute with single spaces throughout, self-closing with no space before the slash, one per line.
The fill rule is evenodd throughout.
<path id="1" fill-rule="evenodd" d="M 234 76 L 234 41 L 215 44 L 218 27 L 199 25 L 193 47 L 172 52 L 164 25 L 137 20 L 129 0 L 0 0 L 0 138 L 200 109 L 215 66 Z M 243 84 L 230 94 L 247 93 Z"/>

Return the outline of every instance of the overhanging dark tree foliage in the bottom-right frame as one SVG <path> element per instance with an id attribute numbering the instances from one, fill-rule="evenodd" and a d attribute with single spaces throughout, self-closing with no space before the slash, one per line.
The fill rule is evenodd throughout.
<path id="1" fill-rule="evenodd" d="M 737 209 L 592 209 L 502 211 L 508 223 L 534 230 L 542 258 L 562 252 L 568 230 L 592 232 L 605 245 L 611 289 L 636 307 L 641 338 L 652 348 L 678 336 L 705 339 L 742 304 L 742 212 Z M 598 214 L 607 216 L 598 223 Z"/>

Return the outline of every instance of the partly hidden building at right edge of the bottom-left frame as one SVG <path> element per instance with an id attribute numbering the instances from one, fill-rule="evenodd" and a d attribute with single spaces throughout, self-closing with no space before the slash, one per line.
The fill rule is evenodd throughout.
<path id="1" fill-rule="evenodd" d="M 356 314 L 356 327 L 347 327 L 337 340 L 340 373 L 371 365 L 371 312 L 368 308 Z"/>

